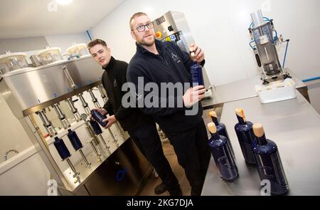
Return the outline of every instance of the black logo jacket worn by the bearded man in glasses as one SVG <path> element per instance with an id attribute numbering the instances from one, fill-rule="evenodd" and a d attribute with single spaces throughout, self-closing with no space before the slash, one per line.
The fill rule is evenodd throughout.
<path id="1" fill-rule="evenodd" d="M 136 93 L 134 94 L 136 95 L 138 104 L 139 100 L 146 97 L 158 98 L 158 107 L 144 105 L 141 107 L 141 110 L 147 115 L 152 115 L 164 132 L 178 133 L 189 130 L 201 122 L 203 114 L 201 103 L 198 103 L 198 112 L 194 115 L 186 115 L 186 110 L 188 109 L 179 103 L 187 90 L 184 84 L 190 84 L 191 82 L 189 70 L 191 65 L 193 65 L 193 61 L 191 61 L 188 53 L 178 48 L 176 43 L 157 40 L 155 43 L 159 55 L 147 51 L 137 43 L 137 52 L 129 62 L 127 80 L 135 85 Z M 201 65 L 204 65 L 204 62 Z M 139 78 L 140 82 L 141 78 L 143 78 L 144 85 L 146 83 L 156 83 L 159 91 L 156 93 L 154 90 L 146 90 L 139 83 Z M 161 83 L 180 83 L 183 86 L 183 93 L 171 93 L 171 95 L 167 93 L 166 98 L 164 98 L 164 94 L 161 93 Z M 161 106 L 161 102 L 163 101 L 167 103 L 165 106 L 164 103 Z"/>

